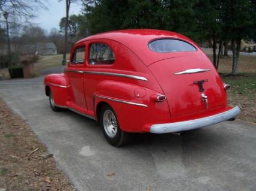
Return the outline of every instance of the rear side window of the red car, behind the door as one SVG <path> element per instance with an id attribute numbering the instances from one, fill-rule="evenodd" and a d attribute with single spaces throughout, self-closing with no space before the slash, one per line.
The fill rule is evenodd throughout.
<path id="1" fill-rule="evenodd" d="M 94 43 L 90 46 L 90 65 L 112 64 L 115 62 L 115 53 L 111 47 L 103 43 Z"/>

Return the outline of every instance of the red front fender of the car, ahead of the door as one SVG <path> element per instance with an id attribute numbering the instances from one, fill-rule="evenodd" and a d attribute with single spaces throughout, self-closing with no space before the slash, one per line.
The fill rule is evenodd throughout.
<path id="1" fill-rule="evenodd" d="M 49 89 L 52 92 L 56 105 L 66 107 L 69 96 L 69 83 L 66 74 L 49 74 L 44 78 L 44 90 L 49 96 Z"/>

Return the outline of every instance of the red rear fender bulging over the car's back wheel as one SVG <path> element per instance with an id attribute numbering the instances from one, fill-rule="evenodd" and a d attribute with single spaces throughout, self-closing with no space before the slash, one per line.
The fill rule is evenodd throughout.
<path id="1" fill-rule="evenodd" d="M 166 101 L 151 101 L 150 96 L 155 93 L 161 92 L 136 84 L 102 81 L 94 91 L 94 105 L 96 111 L 102 102 L 111 105 L 123 131 L 148 132 L 149 128 L 145 128 L 146 124 L 165 122 L 170 119 Z"/>

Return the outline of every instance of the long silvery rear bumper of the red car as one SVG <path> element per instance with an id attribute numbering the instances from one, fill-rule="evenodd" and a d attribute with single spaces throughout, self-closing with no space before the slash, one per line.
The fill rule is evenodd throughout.
<path id="1" fill-rule="evenodd" d="M 150 132 L 153 134 L 166 134 L 171 132 L 180 132 L 180 131 L 187 131 L 191 129 L 203 128 L 205 126 L 227 121 L 229 119 L 236 117 L 238 114 L 240 114 L 240 108 L 236 106 L 231 110 L 228 110 L 213 116 L 209 116 L 209 117 L 188 120 L 184 122 L 151 125 Z"/>

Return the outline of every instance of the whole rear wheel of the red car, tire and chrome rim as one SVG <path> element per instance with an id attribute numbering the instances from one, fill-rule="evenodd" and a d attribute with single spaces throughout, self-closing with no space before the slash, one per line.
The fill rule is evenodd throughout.
<path id="1" fill-rule="evenodd" d="M 130 140 L 131 134 L 120 129 L 115 111 L 109 105 L 104 105 L 100 111 L 100 126 L 108 143 L 115 147 L 121 147 Z"/>

